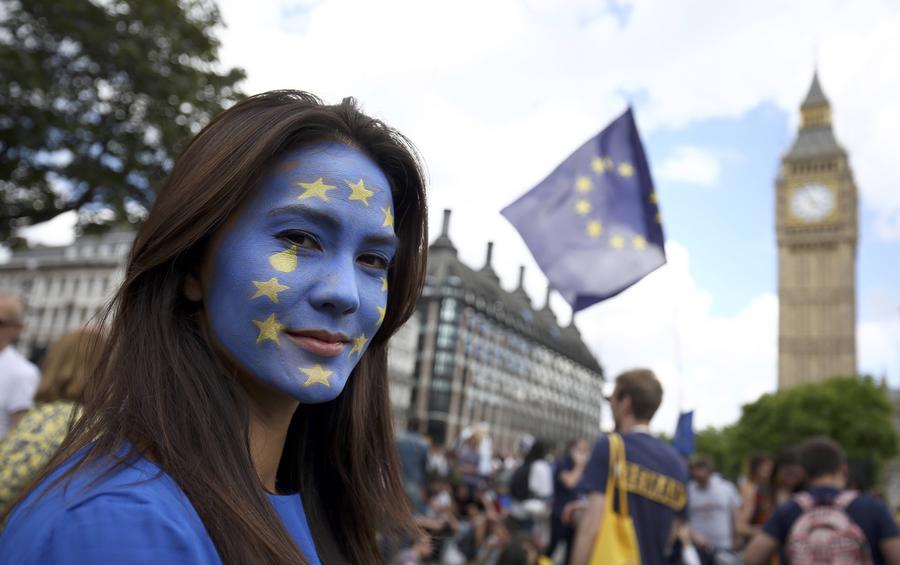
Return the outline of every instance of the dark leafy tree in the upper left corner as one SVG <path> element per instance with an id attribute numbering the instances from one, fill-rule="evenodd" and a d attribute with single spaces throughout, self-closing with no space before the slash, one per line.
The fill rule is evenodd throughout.
<path id="1" fill-rule="evenodd" d="M 4 0 L 0 241 L 79 211 L 139 220 L 174 156 L 241 97 L 208 0 Z"/>

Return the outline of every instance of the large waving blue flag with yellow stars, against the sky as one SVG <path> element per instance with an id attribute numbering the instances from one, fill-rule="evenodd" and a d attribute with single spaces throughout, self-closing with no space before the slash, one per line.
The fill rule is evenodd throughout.
<path id="1" fill-rule="evenodd" d="M 631 108 L 501 213 L 576 312 L 666 263 L 656 192 Z"/>

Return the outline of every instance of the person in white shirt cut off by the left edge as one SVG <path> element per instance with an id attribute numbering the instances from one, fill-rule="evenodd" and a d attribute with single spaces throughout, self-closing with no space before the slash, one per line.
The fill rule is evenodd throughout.
<path id="1" fill-rule="evenodd" d="M 0 438 L 31 408 L 40 371 L 12 342 L 24 327 L 25 305 L 14 294 L 0 293 Z"/>

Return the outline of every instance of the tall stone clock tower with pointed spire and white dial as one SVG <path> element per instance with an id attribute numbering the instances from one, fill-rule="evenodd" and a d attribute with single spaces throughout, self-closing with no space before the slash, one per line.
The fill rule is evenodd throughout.
<path id="1" fill-rule="evenodd" d="M 781 160 L 778 388 L 856 373 L 857 190 L 817 75 Z"/>

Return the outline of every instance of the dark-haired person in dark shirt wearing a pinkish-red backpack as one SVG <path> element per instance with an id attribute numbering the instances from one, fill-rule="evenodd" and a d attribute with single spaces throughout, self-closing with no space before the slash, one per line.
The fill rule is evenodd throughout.
<path id="1" fill-rule="evenodd" d="M 831 504 L 845 492 L 847 460 L 841 447 L 833 440 L 814 438 L 806 441 L 800 447 L 800 463 L 806 470 L 807 492 L 814 504 Z M 846 512 L 865 534 L 875 565 L 900 564 L 900 530 L 883 503 L 860 494 L 846 506 Z M 779 506 L 747 546 L 744 561 L 748 565 L 768 563 L 782 549 L 781 562 L 790 563 L 783 548 L 791 528 L 802 514 L 803 509 L 796 497 Z"/>

